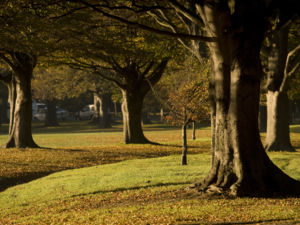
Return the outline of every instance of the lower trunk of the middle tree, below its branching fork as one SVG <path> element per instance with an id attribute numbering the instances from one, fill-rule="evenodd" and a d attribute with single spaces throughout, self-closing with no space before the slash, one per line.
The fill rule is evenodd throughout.
<path id="1" fill-rule="evenodd" d="M 142 129 L 142 108 L 144 95 L 138 90 L 122 90 L 122 114 L 124 141 L 129 143 L 149 143 Z"/>

